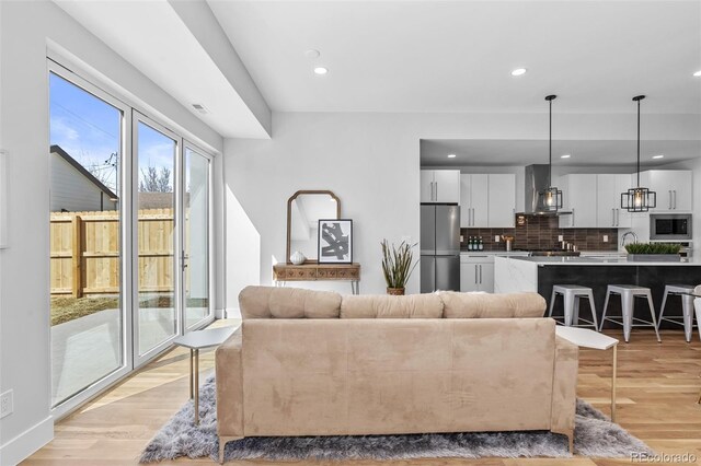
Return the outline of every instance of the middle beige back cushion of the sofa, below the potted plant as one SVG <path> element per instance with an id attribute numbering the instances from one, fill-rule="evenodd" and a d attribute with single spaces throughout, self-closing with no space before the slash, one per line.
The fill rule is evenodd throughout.
<path id="1" fill-rule="evenodd" d="M 341 318 L 440 317 L 443 317 L 443 301 L 436 294 L 344 295 L 341 302 Z"/>

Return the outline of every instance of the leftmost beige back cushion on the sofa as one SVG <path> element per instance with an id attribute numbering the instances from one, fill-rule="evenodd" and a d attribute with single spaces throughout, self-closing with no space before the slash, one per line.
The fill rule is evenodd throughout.
<path id="1" fill-rule="evenodd" d="M 299 288 L 246 287 L 239 294 L 243 318 L 337 318 L 341 294 Z"/>

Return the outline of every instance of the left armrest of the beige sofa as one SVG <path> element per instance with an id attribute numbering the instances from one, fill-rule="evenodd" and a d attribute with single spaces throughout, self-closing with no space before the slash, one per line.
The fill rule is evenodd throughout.
<path id="1" fill-rule="evenodd" d="M 239 327 L 215 353 L 219 436 L 243 436 L 242 341 Z"/>

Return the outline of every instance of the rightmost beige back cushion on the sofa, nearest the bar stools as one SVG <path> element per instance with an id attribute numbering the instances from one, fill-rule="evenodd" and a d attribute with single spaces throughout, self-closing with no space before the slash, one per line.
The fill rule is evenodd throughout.
<path id="1" fill-rule="evenodd" d="M 437 293 L 446 318 L 542 317 L 545 300 L 538 293 Z"/>

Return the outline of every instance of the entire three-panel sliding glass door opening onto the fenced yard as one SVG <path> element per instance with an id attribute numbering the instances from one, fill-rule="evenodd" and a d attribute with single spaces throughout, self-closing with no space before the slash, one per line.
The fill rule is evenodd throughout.
<path id="1" fill-rule="evenodd" d="M 55 416 L 214 319 L 211 158 L 54 61 Z"/>

